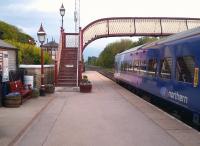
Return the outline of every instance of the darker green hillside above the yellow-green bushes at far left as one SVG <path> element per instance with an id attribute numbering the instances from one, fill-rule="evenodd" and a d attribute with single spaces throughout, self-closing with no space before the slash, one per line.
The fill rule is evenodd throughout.
<path id="1" fill-rule="evenodd" d="M 29 40 L 33 40 L 31 36 L 23 33 L 22 30 L 16 26 L 3 21 L 0 21 L 0 39 L 15 40 L 22 43 L 28 43 Z"/>

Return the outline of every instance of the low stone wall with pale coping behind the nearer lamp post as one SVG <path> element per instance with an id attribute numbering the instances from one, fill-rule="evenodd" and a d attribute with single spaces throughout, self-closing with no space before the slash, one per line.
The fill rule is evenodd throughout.
<path id="1" fill-rule="evenodd" d="M 20 65 L 24 69 L 24 75 L 30 75 L 34 78 L 34 88 L 40 87 L 41 65 Z M 44 84 L 54 84 L 54 65 L 44 65 Z"/>

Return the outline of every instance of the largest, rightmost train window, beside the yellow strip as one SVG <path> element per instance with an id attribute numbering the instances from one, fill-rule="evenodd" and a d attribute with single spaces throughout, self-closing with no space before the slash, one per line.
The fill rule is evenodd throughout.
<path id="1" fill-rule="evenodd" d="M 192 56 L 183 56 L 176 59 L 176 80 L 192 83 L 195 61 Z"/>

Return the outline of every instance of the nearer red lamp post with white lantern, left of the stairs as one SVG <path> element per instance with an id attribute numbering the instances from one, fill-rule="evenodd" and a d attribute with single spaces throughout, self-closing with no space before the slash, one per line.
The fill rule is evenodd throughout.
<path id="1" fill-rule="evenodd" d="M 40 96 L 45 96 L 45 86 L 44 86 L 44 55 L 43 55 L 43 43 L 46 39 L 46 33 L 43 29 L 42 24 L 40 25 L 40 29 L 37 32 L 38 40 L 40 42 L 40 48 L 41 48 L 41 87 L 40 87 Z"/>

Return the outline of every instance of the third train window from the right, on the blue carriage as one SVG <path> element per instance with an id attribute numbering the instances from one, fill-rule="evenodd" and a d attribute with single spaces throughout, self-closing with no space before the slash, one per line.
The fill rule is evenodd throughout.
<path id="1" fill-rule="evenodd" d="M 148 62 L 147 74 L 149 76 L 156 76 L 157 60 L 155 58 L 150 59 Z"/>

